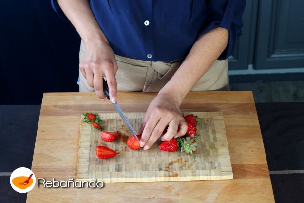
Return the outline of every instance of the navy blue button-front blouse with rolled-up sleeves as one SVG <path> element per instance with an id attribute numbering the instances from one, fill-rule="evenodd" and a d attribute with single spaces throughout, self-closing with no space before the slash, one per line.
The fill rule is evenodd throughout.
<path id="1" fill-rule="evenodd" d="M 219 60 L 231 54 L 242 34 L 246 0 L 90 0 L 91 9 L 115 54 L 145 61 L 184 58 L 193 43 L 214 28 L 229 30 Z M 66 18 L 57 0 L 51 0 Z"/>

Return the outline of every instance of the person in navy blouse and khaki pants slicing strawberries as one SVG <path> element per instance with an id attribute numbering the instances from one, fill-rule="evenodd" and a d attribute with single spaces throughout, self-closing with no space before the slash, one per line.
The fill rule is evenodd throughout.
<path id="1" fill-rule="evenodd" d="M 190 91 L 228 90 L 228 62 L 242 34 L 245 0 L 51 0 L 76 28 L 79 91 L 110 101 L 117 91 L 158 92 L 140 146 L 187 131 L 180 105 Z"/>

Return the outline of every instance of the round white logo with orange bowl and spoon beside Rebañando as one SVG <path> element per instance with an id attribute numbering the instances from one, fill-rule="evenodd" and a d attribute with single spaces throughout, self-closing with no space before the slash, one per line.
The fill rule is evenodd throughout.
<path id="1" fill-rule="evenodd" d="M 32 170 L 21 167 L 13 171 L 10 183 L 15 191 L 26 193 L 35 187 L 36 177 Z"/>

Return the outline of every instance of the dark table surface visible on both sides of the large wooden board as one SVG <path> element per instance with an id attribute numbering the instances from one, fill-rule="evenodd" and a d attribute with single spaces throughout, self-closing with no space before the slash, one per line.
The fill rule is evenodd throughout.
<path id="1" fill-rule="evenodd" d="M 276 203 L 304 203 L 304 103 L 256 108 Z M 39 112 L 40 105 L 0 106 L 0 203 L 26 202 L 9 178 L 16 168 L 31 168 Z"/>

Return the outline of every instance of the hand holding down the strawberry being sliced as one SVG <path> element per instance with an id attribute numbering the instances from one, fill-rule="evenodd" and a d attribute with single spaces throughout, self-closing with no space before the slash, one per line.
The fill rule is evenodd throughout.
<path id="1" fill-rule="evenodd" d="M 152 100 L 138 132 L 138 134 L 142 134 L 140 147 L 144 147 L 144 150 L 149 149 L 161 136 L 167 125 L 169 125 L 167 133 L 161 137 L 163 141 L 170 141 L 173 137 L 177 138 L 186 134 L 188 125 L 179 106 L 180 102 L 166 94 L 159 93 Z"/>

